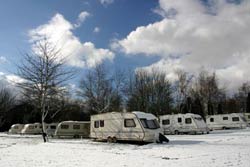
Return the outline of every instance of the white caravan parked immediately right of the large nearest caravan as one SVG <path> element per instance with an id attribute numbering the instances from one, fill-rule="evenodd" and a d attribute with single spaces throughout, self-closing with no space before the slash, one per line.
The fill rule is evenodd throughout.
<path id="1" fill-rule="evenodd" d="M 209 129 L 200 115 L 173 114 L 160 116 L 160 125 L 164 130 L 164 134 L 180 134 L 180 133 L 209 133 Z"/>

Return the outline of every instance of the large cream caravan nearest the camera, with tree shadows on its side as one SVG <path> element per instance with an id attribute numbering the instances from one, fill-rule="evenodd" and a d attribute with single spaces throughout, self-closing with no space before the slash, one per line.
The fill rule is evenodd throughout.
<path id="1" fill-rule="evenodd" d="M 168 142 L 157 118 L 144 112 L 110 112 L 91 116 L 90 137 L 116 142 Z"/>

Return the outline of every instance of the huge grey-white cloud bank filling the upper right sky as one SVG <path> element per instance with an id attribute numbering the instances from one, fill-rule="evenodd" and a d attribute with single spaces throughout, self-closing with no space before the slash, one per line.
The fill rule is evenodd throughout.
<path id="1" fill-rule="evenodd" d="M 250 1 L 214 0 L 205 6 L 198 0 L 160 0 L 159 5 L 161 21 L 136 28 L 113 49 L 160 56 L 152 65 L 160 68 L 181 66 L 196 73 L 205 67 L 232 90 L 250 80 Z"/>

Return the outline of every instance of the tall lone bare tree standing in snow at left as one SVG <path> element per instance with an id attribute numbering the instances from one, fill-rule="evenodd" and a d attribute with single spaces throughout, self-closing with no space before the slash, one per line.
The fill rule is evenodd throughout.
<path id="1" fill-rule="evenodd" d="M 45 118 L 50 110 L 50 100 L 61 96 L 64 83 L 74 76 L 74 72 L 64 67 L 65 59 L 60 50 L 42 40 L 35 44 L 32 53 L 23 55 L 23 62 L 18 65 L 18 75 L 24 82 L 18 83 L 22 93 L 41 113 L 42 133 L 45 137 Z"/>

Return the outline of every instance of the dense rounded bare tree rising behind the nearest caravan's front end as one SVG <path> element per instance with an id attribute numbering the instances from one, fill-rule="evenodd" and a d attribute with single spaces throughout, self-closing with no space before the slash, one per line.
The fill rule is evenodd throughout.
<path id="1" fill-rule="evenodd" d="M 136 71 L 129 88 L 128 110 L 140 110 L 156 115 L 170 112 L 171 85 L 166 75 L 159 70 Z"/>

